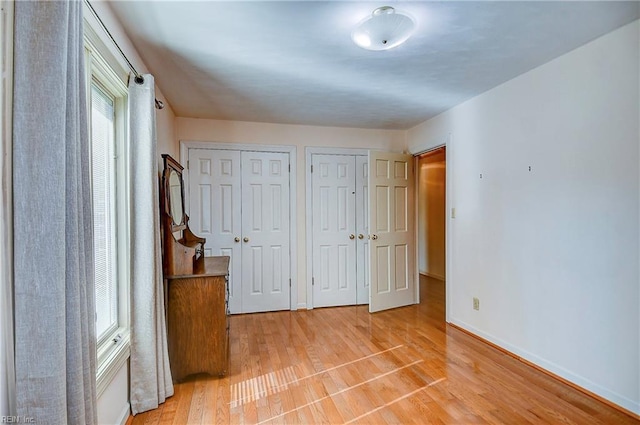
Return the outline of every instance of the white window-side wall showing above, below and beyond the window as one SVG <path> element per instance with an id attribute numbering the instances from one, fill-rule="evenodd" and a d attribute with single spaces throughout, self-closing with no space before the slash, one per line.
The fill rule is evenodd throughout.
<path id="1" fill-rule="evenodd" d="M 94 9 L 100 16 L 100 19 L 104 22 L 109 32 L 116 39 L 120 48 L 127 55 L 127 58 L 133 63 L 136 70 L 139 73 L 147 73 L 148 69 L 138 52 L 131 44 L 131 41 L 127 37 L 126 33 L 122 29 L 120 23 L 116 20 L 113 12 L 109 8 L 108 2 L 92 1 Z M 86 6 L 85 6 L 86 9 Z M 111 55 L 115 58 L 120 67 L 128 70 L 126 62 L 122 59 L 121 55 L 117 52 L 113 43 L 108 39 L 108 36 L 99 27 L 99 24 L 95 21 L 93 16 L 85 10 L 85 18 L 88 20 L 95 33 L 98 34 L 104 44 L 104 46 L 110 50 Z M 103 52 L 101 52 L 103 53 Z M 126 77 L 124 77 L 126 78 Z M 126 80 L 125 80 L 126 82 Z M 171 109 L 171 105 L 165 100 L 160 87 L 156 85 L 156 98 L 164 101 L 165 108 L 162 110 L 156 110 L 156 129 L 158 139 L 158 164 L 162 164 L 161 152 L 173 151 L 175 146 L 175 115 Z M 161 165 L 160 165 L 161 166 Z M 161 168 L 160 168 L 161 169 Z M 128 365 L 128 362 L 127 362 Z M 129 382 L 128 382 L 128 366 L 125 365 L 115 374 L 112 382 L 104 390 L 102 394 L 98 396 L 98 422 L 100 424 L 121 424 L 126 421 L 129 413 Z M 124 413 L 126 412 L 126 414 Z M 124 419 L 124 421 L 123 421 Z"/>

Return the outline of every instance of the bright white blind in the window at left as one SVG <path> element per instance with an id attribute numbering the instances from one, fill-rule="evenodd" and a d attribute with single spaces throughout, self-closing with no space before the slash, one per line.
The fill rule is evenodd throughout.
<path id="1" fill-rule="evenodd" d="M 118 327 L 115 99 L 91 84 L 92 193 L 98 341 Z"/>

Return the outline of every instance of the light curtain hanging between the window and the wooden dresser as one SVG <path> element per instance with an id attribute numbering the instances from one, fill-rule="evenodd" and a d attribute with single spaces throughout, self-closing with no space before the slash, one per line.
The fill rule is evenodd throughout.
<path id="1" fill-rule="evenodd" d="M 173 395 L 165 323 L 151 75 L 129 79 L 131 136 L 131 411 L 155 409 Z"/>

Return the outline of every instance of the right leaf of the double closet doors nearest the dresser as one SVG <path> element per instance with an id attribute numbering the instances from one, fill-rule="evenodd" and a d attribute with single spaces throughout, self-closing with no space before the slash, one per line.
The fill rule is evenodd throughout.
<path id="1" fill-rule="evenodd" d="M 242 311 L 290 309 L 289 154 L 242 152 Z"/>

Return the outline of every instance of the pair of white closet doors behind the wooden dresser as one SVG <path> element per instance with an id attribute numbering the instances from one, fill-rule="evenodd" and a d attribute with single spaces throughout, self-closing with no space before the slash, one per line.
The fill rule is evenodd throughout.
<path id="1" fill-rule="evenodd" d="M 231 313 L 288 310 L 289 155 L 189 149 L 189 213 L 205 255 L 227 255 Z"/>

